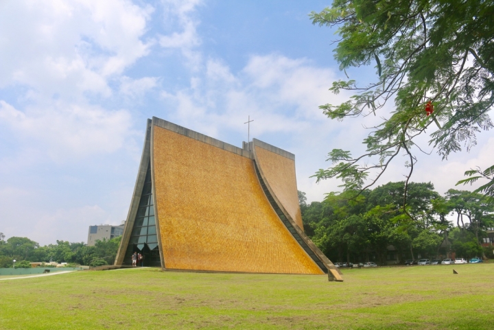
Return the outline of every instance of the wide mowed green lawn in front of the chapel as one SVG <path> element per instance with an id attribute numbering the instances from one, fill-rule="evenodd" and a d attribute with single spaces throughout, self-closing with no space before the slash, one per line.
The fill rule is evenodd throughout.
<path id="1" fill-rule="evenodd" d="M 343 276 L 146 268 L 0 281 L 0 329 L 494 329 L 493 263 Z"/>

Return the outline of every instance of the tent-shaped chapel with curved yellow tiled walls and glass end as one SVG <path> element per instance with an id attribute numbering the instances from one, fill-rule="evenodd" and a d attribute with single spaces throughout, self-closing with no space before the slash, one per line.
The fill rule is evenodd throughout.
<path id="1" fill-rule="evenodd" d="M 305 235 L 295 156 L 257 139 L 237 148 L 148 119 L 139 173 L 115 265 L 166 270 L 328 274 Z"/>

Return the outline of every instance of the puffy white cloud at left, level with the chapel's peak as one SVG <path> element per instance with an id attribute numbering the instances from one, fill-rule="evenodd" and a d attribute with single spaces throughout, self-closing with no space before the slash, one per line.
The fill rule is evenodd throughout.
<path id="1" fill-rule="evenodd" d="M 0 101 L 0 121 L 24 141 L 23 148 L 64 163 L 89 154 L 115 152 L 132 134 L 130 113 L 99 106 L 56 104 L 23 113 Z"/>

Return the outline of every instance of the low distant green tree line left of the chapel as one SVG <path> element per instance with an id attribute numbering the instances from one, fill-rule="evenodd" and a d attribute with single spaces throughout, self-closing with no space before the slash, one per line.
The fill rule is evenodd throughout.
<path id="1" fill-rule="evenodd" d="M 30 262 L 56 261 L 85 266 L 102 266 L 113 263 L 121 237 L 96 241 L 95 246 L 84 242 L 70 243 L 56 241 L 56 244 L 40 246 L 27 237 L 10 237 L 0 233 L 0 268 L 12 268 L 16 260 L 17 267 L 30 267 Z"/>

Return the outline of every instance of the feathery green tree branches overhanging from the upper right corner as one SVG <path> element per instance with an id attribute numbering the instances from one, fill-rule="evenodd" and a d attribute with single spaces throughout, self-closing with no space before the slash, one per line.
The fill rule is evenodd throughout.
<path id="1" fill-rule="evenodd" d="M 488 115 L 494 104 L 493 1 L 333 0 L 331 8 L 312 12 L 311 19 L 338 27 L 341 38 L 334 56 L 341 70 L 376 67 L 375 80 L 366 86 L 350 79 L 334 82 L 334 93 L 348 90 L 354 95 L 339 105 L 320 106 L 325 115 L 383 119 L 364 139 L 365 154 L 355 157 L 350 151 L 332 150 L 333 166 L 320 169 L 318 180 L 340 178 L 344 189 L 362 191 L 399 154 L 407 156 L 410 178 L 416 152 L 422 150 L 414 143 L 420 134 L 429 134 L 430 145 L 447 158 L 451 152 L 469 150 L 478 132 L 493 127 Z M 385 113 L 388 101 L 395 105 Z M 425 113 L 429 101 L 434 105 L 430 116 Z M 368 156 L 373 163 L 364 163 Z M 491 180 L 489 187 L 491 174 L 483 176 Z M 407 183 L 408 179 L 405 189 Z M 494 193 L 488 187 L 483 191 Z"/>

